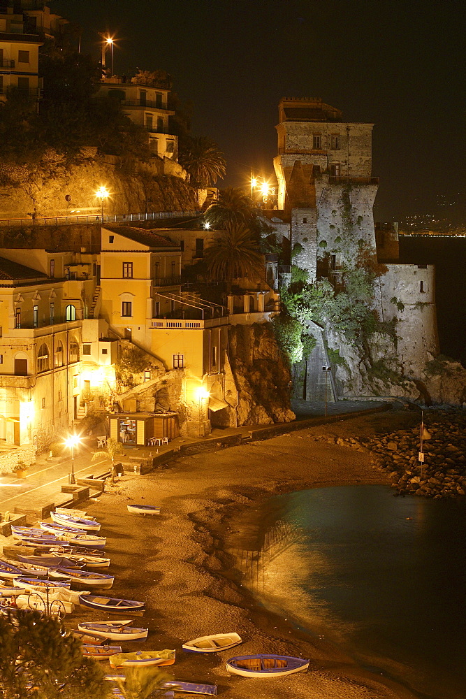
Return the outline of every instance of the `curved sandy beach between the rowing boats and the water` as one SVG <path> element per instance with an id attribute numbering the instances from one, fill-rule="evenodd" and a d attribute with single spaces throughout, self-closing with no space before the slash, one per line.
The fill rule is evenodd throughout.
<path id="1" fill-rule="evenodd" d="M 233 514 L 257 507 L 271 495 L 329 485 L 386 484 L 386 476 L 372 468 L 369 452 L 336 439 L 385 433 L 417 421 L 412 412 L 382 412 L 187 456 L 150 475 L 124 476 L 115 493 L 88 503 L 108 537 L 110 570 L 115 572 L 112 594 L 147 603 L 144 617 L 137 619 L 138 625 L 150 628 L 144 647 L 176 648 L 176 664 L 167 668 L 174 677 L 217 684 L 226 699 L 415 697 L 402 684 L 363 670 L 338 647 L 326 644 L 325 635 L 319 639 L 300 633 L 257 605 L 241 586 L 223 542 Z M 162 514 L 129 514 L 130 500 L 161 505 Z M 97 619 L 99 614 L 80 610 L 80 617 Z M 310 670 L 282 679 L 230 677 L 225 661 L 234 651 L 212 656 L 181 651 L 190 638 L 233 630 L 245 641 L 237 654 L 303 656 L 310 658 Z"/>

